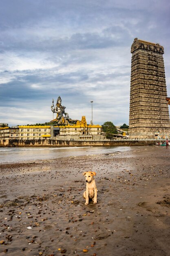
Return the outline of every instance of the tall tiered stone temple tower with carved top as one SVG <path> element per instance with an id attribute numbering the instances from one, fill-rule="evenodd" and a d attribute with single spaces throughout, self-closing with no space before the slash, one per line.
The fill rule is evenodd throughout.
<path id="1" fill-rule="evenodd" d="M 163 46 L 135 38 L 131 53 L 129 138 L 170 139 Z"/>

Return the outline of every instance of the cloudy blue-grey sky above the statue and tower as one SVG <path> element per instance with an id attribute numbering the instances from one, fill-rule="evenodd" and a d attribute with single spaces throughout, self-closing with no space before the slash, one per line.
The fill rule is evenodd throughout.
<path id="1" fill-rule="evenodd" d="M 169 0 L 0 0 L 0 122 L 129 122 L 134 38 L 164 47 L 170 96 Z"/>

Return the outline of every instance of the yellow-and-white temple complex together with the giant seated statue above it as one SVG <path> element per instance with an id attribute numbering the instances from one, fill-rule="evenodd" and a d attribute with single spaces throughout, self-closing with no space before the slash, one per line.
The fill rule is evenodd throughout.
<path id="1" fill-rule="evenodd" d="M 43 125 L 27 125 L 27 126 L 12 126 L 1 124 L 0 126 L 0 144 L 3 141 L 36 141 L 44 139 L 52 140 L 99 140 L 105 136 L 101 132 L 102 126 L 95 124 L 87 124 L 86 117 L 82 116 L 82 120 L 72 120 L 68 113 L 65 112 L 62 106 L 62 99 L 59 96 L 57 103 L 54 106 L 54 101 L 51 106 L 53 113 L 56 113 L 56 118 L 48 124 Z M 33 142 L 34 143 L 34 142 Z"/>

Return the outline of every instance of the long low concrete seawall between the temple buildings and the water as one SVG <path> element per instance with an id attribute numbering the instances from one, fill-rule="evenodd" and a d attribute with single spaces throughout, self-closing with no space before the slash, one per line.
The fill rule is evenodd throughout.
<path id="1" fill-rule="evenodd" d="M 155 145 L 155 140 L 56 140 L 56 139 L 3 139 L 0 140 L 0 147 L 69 147 L 69 146 L 146 146 Z"/>

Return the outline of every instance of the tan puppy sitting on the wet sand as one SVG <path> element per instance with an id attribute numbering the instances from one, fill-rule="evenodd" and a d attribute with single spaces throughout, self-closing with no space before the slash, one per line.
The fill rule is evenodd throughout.
<path id="1" fill-rule="evenodd" d="M 87 205 L 89 202 L 89 198 L 93 200 L 93 204 L 97 204 L 97 187 L 95 184 L 94 175 L 96 175 L 95 172 L 85 172 L 83 173 L 86 177 L 86 191 L 84 191 L 83 196 L 86 199 L 85 204 Z"/>

